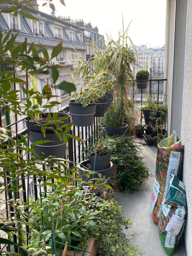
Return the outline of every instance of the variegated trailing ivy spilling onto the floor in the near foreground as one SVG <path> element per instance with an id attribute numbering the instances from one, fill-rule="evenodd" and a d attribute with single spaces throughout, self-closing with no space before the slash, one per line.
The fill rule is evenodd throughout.
<path id="1" fill-rule="evenodd" d="M 122 215 L 121 206 L 118 206 L 115 199 L 104 200 L 95 196 L 87 209 L 91 213 L 97 212 L 97 231 L 94 238 L 98 242 L 98 255 L 130 256 L 139 253 L 138 247 L 130 245 L 130 240 L 136 235 L 131 234 L 131 238 L 128 239 L 123 232 L 123 229 L 130 228 L 133 222 Z"/>

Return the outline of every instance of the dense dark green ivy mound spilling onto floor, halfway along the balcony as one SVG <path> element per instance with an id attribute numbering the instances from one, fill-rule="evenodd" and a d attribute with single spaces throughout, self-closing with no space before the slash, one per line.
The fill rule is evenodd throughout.
<path id="1" fill-rule="evenodd" d="M 127 193 L 140 187 L 149 177 L 149 169 L 140 155 L 141 148 L 127 135 L 106 137 L 105 145 L 112 152 L 111 162 L 118 165 L 117 184 Z"/>

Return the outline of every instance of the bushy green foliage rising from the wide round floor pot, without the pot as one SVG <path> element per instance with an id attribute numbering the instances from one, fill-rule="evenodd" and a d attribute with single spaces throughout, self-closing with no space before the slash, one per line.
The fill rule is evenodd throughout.
<path id="1" fill-rule="evenodd" d="M 101 119 L 101 124 L 107 128 L 118 128 L 121 120 L 122 103 L 111 104 L 109 110 Z"/>

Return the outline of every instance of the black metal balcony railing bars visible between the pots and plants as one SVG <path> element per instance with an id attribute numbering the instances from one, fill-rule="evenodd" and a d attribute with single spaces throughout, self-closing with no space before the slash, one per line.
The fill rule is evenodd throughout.
<path id="1" fill-rule="evenodd" d="M 152 90 L 152 82 L 153 81 L 157 81 L 158 83 L 158 93 L 156 94 L 156 96 L 154 95 L 154 97 L 157 97 L 157 99 L 159 100 L 159 87 L 160 87 L 160 81 L 166 81 L 167 79 L 149 79 L 149 83 L 150 83 L 150 86 L 149 86 L 149 92 L 153 94 L 153 90 Z M 26 81 L 28 81 L 28 74 L 26 72 Z M 28 90 L 28 84 L 27 84 L 27 88 Z M 140 102 L 143 102 L 143 92 L 141 90 L 141 101 Z M 2 114 L 3 114 L 3 108 L 0 106 L 0 125 L 2 127 Z M 58 110 L 59 112 L 69 112 L 69 108 L 68 106 L 65 106 L 63 108 L 61 108 L 60 110 Z M 142 114 L 142 113 L 141 113 Z M 22 122 L 24 119 L 26 118 L 22 118 L 20 120 L 17 120 L 18 118 L 18 115 L 15 114 L 15 122 L 13 122 L 12 124 L 8 125 L 8 126 L 5 126 L 4 128 L 10 128 L 12 127 L 13 130 L 16 131 L 16 134 L 14 134 L 12 137 L 13 139 L 16 141 L 16 143 L 18 142 L 18 140 L 21 138 L 21 135 L 23 136 L 28 136 L 29 135 L 29 124 L 27 124 L 27 127 L 23 128 L 21 131 L 18 131 L 18 123 L 19 122 Z M 76 126 L 73 126 L 72 127 L 72 130 L 70 130 L 70 133 L 75 135 L 75 136 L 78 136 L 78 137 L 81 137 L 82 139 L 85 140 L 85 144 L 87 143 L 87 139 L 89 138 L 89 136 L 91 136 L 91 139 L 92 139 L 92 142 L 95 143 L 98 141 L 98 125 L 99 125 L 99 122 L 100 122 L 100 118 L 95 118 L 94 119 L 94 122 L 93 122 L 93 125 L 91 126 L 88 126 L 88 127 L 76 127 Z M 29 144 L 29 139 L 28 139 L 28 146 L 30 146 Z M 70 167 L 72 167 L 73 163 L 80 163 L 82 160 L 85 159 L 86 155 L 85 155 L 85 152 L 84 152 L 84 148 L 83 148 L 83 145 L 81 144 L 80 141 L 77 141 L 77 140 L 74 140 L 72 138 L 69 137 L 69 140 L 68 140 L 68 152 L 67 154 L 68 155 L 68 160 L 71 161 L 72 163 L 70 163 Z M 29 157 L 29 155 L 27 156 Z M 45 165 L 42 165 L 42 169 L 45 170 Z M 10 187 L 13 186 L 13 183 L 12 181 L 10 180 L 5 180 L 4 182 L 9 182 L 10 184 Z M 54 182 L 54 181 L 53 181 Z M 26 184 L 26 181 L 25 179 L 22 179 L 22 190 L 23 190 L 23 201 L 24 203 L 27 203 L 28 200 L 29 200 L 29 186 L 26 186 L 29 184 L 29 181 L 28 183 Z M 35 177 L 33 177 L 33 186 L 34 186 L 34 196 L 35 196 L 35 200 L 38 199 L 38 190 L 37 190 L 37 180 Z M 28 189 L 26 189 L 28 188 Z M 47 191 L 46 188 L 44 187 L 44 192 Z M 12 190 L 10 190 L 8 192 L 8 195 L 7 193 L 5 193 L 5 208 L 6 208 L 6 211 L 5 211 L 5 214 L 7 217 L 7 219 L 9 219 L 11 216 L 14 216 L 14 211 L 13 209 L 10 209 L 10 211 L 8 210 L 9 206 L 8 206 L 8 203 L 7 203 L 7 200 L 9 199 L 12 199 L 13 198 L 13 192 Z M 27 221 L 27 220 L 26 220 Z M 27 231 L 29 232 L 29 227 L 28 225 L 26 225 L 26 229 Z M 17 243 L 17 237 L 16 237 L 16 234 L 13 234 L 13 241 L 15 243 Z M 27 245 L 28 245 L 28 239 L 27 239 Z M 4 245 L 2 248 L 0 248 L 1 251 L 4 251 L 6 249 L 6 245 Z M 10 245 L 8 245 L 8 248 L 7 248 L 9 251 L 10 251 Z M 17 251 L 18 248 L 15 248 L 15 252 L 18 252 Z"/>

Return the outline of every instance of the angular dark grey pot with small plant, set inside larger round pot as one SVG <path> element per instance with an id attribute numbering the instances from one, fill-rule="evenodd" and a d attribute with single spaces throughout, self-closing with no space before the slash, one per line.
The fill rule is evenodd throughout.
<path id="1" fill-rule="evenodd" d="M 104 170 L 110 166 L 111 152 L 109 152 L 108 148 L 100 141 L 91 147 L 88 158 L 93 170 Z"/>

